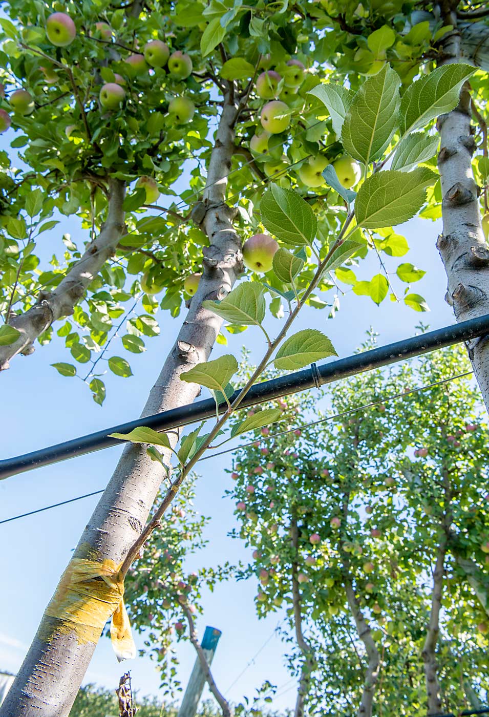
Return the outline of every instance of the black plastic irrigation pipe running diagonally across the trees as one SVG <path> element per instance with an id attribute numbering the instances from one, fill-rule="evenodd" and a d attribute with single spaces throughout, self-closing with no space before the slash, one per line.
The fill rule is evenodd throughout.
<path id="1" fill-rule="evenodd" d="M 331 361 L 330 364 L 323 364 L 323 366 L 311 364 L 308 369 L 295 371 L 287 376 L 278 376 L 276 379 L 255 384 L 248 391 L 245 399 L 240 404 L 240 408 L 255 406 L 255 404 L 314 387 L 320 388 L 324 384 L 331 384 L 348 376 L 379 369 L 381 366 L 395 364 L 397 361 L 411 359 L 422 353 L 437 351 L 440 348 L 453 346 L 455 343 L 461 343 L 462 341 L 470 341 L 470 339 L 485 336 L 486 334 L 489 334 L 489 315 L 473 318 L 452 326 L 444 326 L 436 331 L 405 338 L 403 341 L 389 343 L 387 346 L 380 346 L 371 351 L 355 353 L 353 356 L 346 357 L 346 359 Z M 229 400 L 232 402 L 237 398 L 238 394 L 239 391 L 235 391 Z M 225 410 L 226 404 L 219 406 L 219 413 L 224 413 Z M 159 432 L 170 431 L 212 418 L 215 414 L 216 405 L 214 404 L 214 399 L 206 399 L 171 409 L 170 411 L 138 418 L 118 426 L 112 426 L 32 453 L 7 458 L 0 461 L 0 480 L 9 478 L 9 476 L 17 473 L 24 473 L 26 470 L 51 465 L 52 463 L 67 460 L 67 458 L 85 455 L 85 453 L 123 443 L 117 438 L 110 438 L 110 433 L 128 433 L 139 426 L 146 426 Z"/>

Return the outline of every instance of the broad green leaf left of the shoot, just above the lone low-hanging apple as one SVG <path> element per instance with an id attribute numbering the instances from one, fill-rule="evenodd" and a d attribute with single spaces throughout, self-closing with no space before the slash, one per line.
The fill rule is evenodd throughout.
<path id="1" fill-rule="evenodd" d="M 295 191 L 270 184 L 260 201 L 262 223 L 287 244 L 311 244 L 318 221 L 307 201 Z"/>

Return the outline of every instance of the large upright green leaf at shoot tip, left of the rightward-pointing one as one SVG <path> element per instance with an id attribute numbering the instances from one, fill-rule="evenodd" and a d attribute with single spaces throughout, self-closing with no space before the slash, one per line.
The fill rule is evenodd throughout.
<path id="1" fill-rule="evenodd" d="M 365 165 L 379 159 L 399 121 L 401 78 L 384 65 L 356 92 L 346 115 L 341 141 L 345 151 Z"/>

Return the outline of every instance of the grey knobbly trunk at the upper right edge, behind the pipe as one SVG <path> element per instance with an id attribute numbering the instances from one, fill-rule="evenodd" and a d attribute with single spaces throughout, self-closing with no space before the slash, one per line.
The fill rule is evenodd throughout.
<path id="1" fill-rule="evenodd" d="M 447 14 L 447 23 L 456 26 L 455 12 Z M 443 47 L 445 62 L 462 57 L 460 34 L 447 37 Z M 469 58 L 473 60 L 473 58 Z M 471 158 L 475 141 L 470 128 L 470 87 L 466 84 L 455 110 L 438 118 L 440 154 L 438 168 L 442 186 L 443 233 L 437 241 L 445 272 L 449 303 L 457 321 L 489 314 L 489 250 L 483 234 L 478 186 L 473 178 Z M 470 361 L 489 410 L 489 337 L 467 342 Z"/>

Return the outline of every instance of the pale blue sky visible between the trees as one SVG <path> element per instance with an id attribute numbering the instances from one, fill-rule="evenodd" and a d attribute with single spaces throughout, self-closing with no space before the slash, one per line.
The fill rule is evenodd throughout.
<path id="1" fill-rule="evenodd" d="M 11 138 L 9 135 L 9 141 Z M 1 138 L 1 147 L 8 147 L 5 135 Z M 165 206 L 164 199 L 161 205 Z M 341 310 L 334 320 L 328 320 L 325 310 L 305 308 L 295 328 L 320 328 L 331 338 L 338 355 L 342 357 L 352 353 L 364 340 L 369 326 L 379 331 L 379 343 L 389 343 L 411 336 L 419 320 L 429 323 L 431 328 L 453 323 L 452 312 L 444 301 L 445 272 L 435 248 L 441 225 L 414 219 L 397 230 L 399 234 L 405 234 L 412 249 L 400 260 L 387 258 L 386 264 L 395 268 L 397 263 L 407 261 L 427 271 L 427 275 L 413 285 L 412 290 L 427 299 L 431 313 L 415 313 L 404 304 L 391 303 L 388 299 L 377 308 L 370 298 L 353 295 L 350 291 L 341 297 Z M 73 228 L 72 220 L 63 218 L 61 225 L 42 235 L 42 254 L 45 252 L 46 256 L 50 256 L 54 244 L 60 247 L 65 231 L 72 232 L 73 239 L 79 244 L 87 239 L 81 229 Z M 378 260 L 372 256 L 356 273 L 360 279 L 370 279 L 377 272 Z M 81 381 L 64 378 L 49 365 L 55 361 L 71 361 L 62 340 L 55 338 L 48 346 L 39 346 L 32 356 L 14 359 L 11 369 L 0 376 L 3 408 L 1 456 L 29 452 L 138 417 L 179 331 L 182 316 L 172 319 L 168 313 L 161 313 L 159 320 L 161 334 L 147 341 L 148 351 L 130 355 L 134 375 L 130 379 L 121 379 L 113 374 L 105 377 L 108 397 L 103 408 L 92 401 L 90 391 Z M 275 318 L 267 319 L 269 333 L 273 334 L 277 326 Z M 258 330 L 249 329 L 235 336 L 228 334 L 228 337 L 228 346 L 216 346 L 213 358 L 228 352 L 239 356 L 245 343 L 252 351 L 252 359 L 257 359 L 264 348 Z M 115 347 L 113 353 L 120 351 Z M 111 448 L 1 482 L 0 520 L 103 488 L 119 452 L 120 449 Z M 204 515 L 212 516 L 212 522 L 206 530 L 209 547 L 196 554 L 195 562 L 189 565 L 189 569 L 209 562 L 247 560 L 250 557 L 237 541 L 227 537 L 228 531 L 236 524 L 233 505 L 222 498 L 229 485 L 229 475 L 224 473 L 229 465 L 230 457 L 227 455 L 206 460 L 199 467 L 201 478 L 197 484 L 196 508 Z M 0 540 L 4 546 L 4 585 L 0 592 L 0 671 L 15 672 L 19 668 L 44 607 L 96 500 L 96 496 L 87 498 L 0 526 Z M 213 672 L 219 688 L 224 692 L 273 635 L 277 623 L 283 618 L 279 611 L 265 620 L 257 620 L 253 602 L 256 589 L 254 581 L 228 583 L 217 587 L 213 594 L 204 595 L 205 610 L 204 616 L 199 618 L 199 633 L 203 634 L 206 625 L 222 630 Z M 137 640 L 141 643 L 140 638 Z M 185 684 L 194 664 L 194 650 L 189 643 L 185 643 L 179 647 L 178 654 L 181 660 L 179 678 Z M 95 651 L 85 681 L 115 688 L 125 669 L 131 670 L 136 689 L 143 694 L 157 695 L 158 674 L 153 663 L 138 658 L 118 665 L 110 642 L 105 639 L 100 641 Z M 295 683 L 285 670 L 283 646 L 277 636 L 271 637 L 227 696 L 233 701 L 239 701 L 242 695 L 251 696 L 265 679 L 279 685 L 281 696 L 274 707 L 292 707 Z"/>

